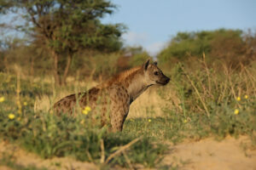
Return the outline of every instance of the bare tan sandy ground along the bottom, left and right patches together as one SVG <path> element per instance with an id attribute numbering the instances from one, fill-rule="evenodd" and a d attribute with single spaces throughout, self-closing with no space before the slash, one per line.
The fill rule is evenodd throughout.
<path id="1" fill-rule="evenodd" d="M 75 161 L 71 158 L 43 160 L 32 153 L 20 150 L 13 144 L 1 142 L 0 157 L 3 157 L 4 153 L 6 156 L 11 155 L 16 163 L 25 167 L 34 165 L 48 169 L 99 169 L 93 163 Z M 247 137 L 239 139 L 228 137 L 220 142 L 214 139 L 203 139 L 197 142 L 170 144 L 164 160 L 157 167 L 166 167 L 166 169 L 177 167 L 177 169 L 184 170 L 256 170 L 256 150 L 252 150 Z M 9 170 L 10 168 L 0 166 L 0 169 Z"/>

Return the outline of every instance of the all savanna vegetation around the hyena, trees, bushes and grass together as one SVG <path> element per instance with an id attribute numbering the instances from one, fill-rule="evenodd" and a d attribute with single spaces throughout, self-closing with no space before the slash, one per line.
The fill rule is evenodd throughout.
<path id="1" fill-rule="evenodd" d="M 164 143 L 247 135 L 255 148 L 253 31 L 177 33 L 156 56 L 172 79 L 166 87 L 149 90 L 154 94 L 147 98 L 158 97 L 157 105 L 144 103 L 147 107 L 139 116 L 131 111 L 122 133 L 108 133 L 91 125 L 90 110 L 73 117 L 55 116 L 49 108 L 66 94 L 84 91 L 152 57 L 143 48 L 123 45 L 125 26 L 101 23 L 103 16 L 113 13 L 114 4 L 3 0 L 0 6 L 1 17 L 18 14 L 23 20 L 15 26 L 1 23 L 1 31 L 24 35 L 5 34 L 0 39 L 2 141 L 44 159 L 69 156 L 99 167 L 130 168 L 160 168 L 167 150 Z M 37 169 L 19 167 L 6 156 L 0 164 Z"/>

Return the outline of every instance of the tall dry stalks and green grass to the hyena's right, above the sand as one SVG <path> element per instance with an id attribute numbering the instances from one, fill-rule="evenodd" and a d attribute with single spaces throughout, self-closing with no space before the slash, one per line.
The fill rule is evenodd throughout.
<path id="1" fill-rule="evenodd" d="M 221 63 L 207 64 L 205 59 L 188 63 L 167 71 L 172 81 L 158 88 L 162 100 L 168 101 L 162 116 L 126 122 L 125 133 L 146 133 L 173 143 L 248 135 L 256 144 L 255 65 L 234 70 Z"/>

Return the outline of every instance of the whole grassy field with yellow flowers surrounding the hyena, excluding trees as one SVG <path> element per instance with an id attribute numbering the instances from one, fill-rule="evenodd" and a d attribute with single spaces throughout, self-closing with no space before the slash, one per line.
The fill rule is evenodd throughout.
<path id="1" fill-rule="evenodd" d="M 166 69 L 172 81 L 166 87 L 150 88 L 131 105 L 122 133 L 90 126 L 83 114 L 49 112 L 57 99 L 96 82 L 74 79 L 67 87 L 55 88 L 49 77 L 26 77 L 22 71 L 0 73 L 0 138 L 44 159 L 70 156 L 99 167 L 160 167 L 166 142 L 247 135 L 255 146 L 255 64 L 241 65 L 240 70 L 210 67 L 204 61 L 196 66 Z M 6 159 L 0 163 L 19 168 Z"/>

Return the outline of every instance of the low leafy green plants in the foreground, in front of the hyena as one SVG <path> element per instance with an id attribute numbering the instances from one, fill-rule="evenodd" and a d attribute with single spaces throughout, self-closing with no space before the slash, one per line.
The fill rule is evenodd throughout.
<path id="1" fill-rule="evenodd" d="M 16 115 L 18 116 L 18 115 Z M 4 140 L 16 142 L 26 150 L 32 151 L 44 159 L 52 156 L 71 156 L 79 161 L 101 160 L 101 141 L 104 144 L 106 158 L 114 151 L 131 142 L 134 137 L 124 133 L 108 133 L 106 129 L 87 128 L 80 122 L 84 116 L 55 116 L 48 113 L 35 115 L 26 112 L 9 120 L 5 112 L 0 112 L 0 135 Z M 147 138 L 131 145 L 125 154 L 131 163 L 141 163 L 145 167 L 154 167 L 165 153 L 166 146 L 152 144 Z M 115 156 L 110 164 L 126 165 L 124 155 Z"/>

